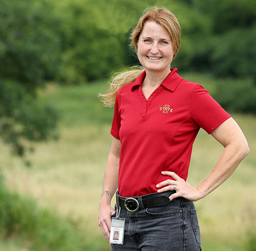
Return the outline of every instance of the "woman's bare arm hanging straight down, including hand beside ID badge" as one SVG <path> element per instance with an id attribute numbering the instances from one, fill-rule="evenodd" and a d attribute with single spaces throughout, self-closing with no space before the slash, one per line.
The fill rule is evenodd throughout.
<path id="1" fill-rule="evenodd" d="M 105 168 L 102 195 L 98 210 L 98 225 L 101 227 L 101 231 L 107 241 L 109 241 L 110 236 L 110 216 L 115 212 L 110 202 L 115 191 L 117 191 L 120 150 L 121 141 L 113 137 L 108 161 Z"/>

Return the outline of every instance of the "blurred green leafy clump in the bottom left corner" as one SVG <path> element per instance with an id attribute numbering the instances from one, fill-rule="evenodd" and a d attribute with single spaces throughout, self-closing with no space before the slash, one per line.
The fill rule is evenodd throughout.
<path id="1" fill-rule="evenodd" d="M 0 176 L 0 236 L 26 242 L 29 250 L 86 250 L 78 229 L 67 219 L 40 208 L 35 200 L 7 191 Z"/>

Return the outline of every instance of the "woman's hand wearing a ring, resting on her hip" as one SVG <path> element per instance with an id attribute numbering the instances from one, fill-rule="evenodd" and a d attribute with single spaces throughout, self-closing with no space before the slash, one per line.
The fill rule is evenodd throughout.
<path id="1" fill-rule="evenodd" d="M 183 197 L 188 200 L 197 201 L 203 196 L 200 195 L 200 191 L 198 187 L 192 187 L 188 182 L 184 181 L 184 179 L 180 178 L 179 175 L 172 171 L 162 171 L 163 175 L 168 175 L 173 179 L 166 179 L 166 181 L 162 181 L 156 185 L 158 189 L 158 193 L 173 191 L 176 190 L 175 194 L 172 194 L 169 198 L 170 201 L 177 197 Z M 164 186 L 164 187 L 163 187 Z M 176 187 L 175 187 L 176 186 Z M 160 188 L 163 187 L 163 188 Z M 175 188 L 175 189 L 174 189 Z"/>

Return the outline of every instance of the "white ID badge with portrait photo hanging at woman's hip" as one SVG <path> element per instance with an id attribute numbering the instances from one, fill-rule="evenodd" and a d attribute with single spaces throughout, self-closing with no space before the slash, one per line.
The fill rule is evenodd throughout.
<path id="1" fill-rule="evenodd" d="M 125 219 L 113 217 L 111 220 L 109 243 L 123 245 L 124 236 L 125 236 Z"/>

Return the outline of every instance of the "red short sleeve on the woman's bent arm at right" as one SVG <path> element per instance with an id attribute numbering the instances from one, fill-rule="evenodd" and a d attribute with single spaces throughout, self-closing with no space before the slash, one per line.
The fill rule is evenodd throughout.
<path id="1" fill-rule="evenodd" d="M 231 117 L 201 85 L 192 91 L 191 115 L 192 119 L 209 134 Z"/>

